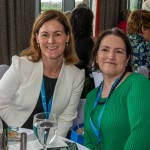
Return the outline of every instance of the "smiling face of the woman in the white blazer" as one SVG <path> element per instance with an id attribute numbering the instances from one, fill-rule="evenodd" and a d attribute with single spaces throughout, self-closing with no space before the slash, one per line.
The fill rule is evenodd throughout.
<path id="1" fill-rule="evenodd" d="M 69 35 L 66 35 L 63 25 L 54 19 L 42 25 L 36 39 L 40 46 L 42 57 L 58 59 L 63 57 L 66 42 L 69 41 Z"/>

